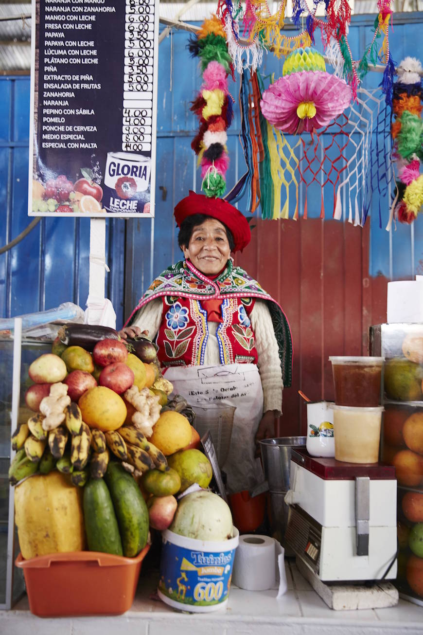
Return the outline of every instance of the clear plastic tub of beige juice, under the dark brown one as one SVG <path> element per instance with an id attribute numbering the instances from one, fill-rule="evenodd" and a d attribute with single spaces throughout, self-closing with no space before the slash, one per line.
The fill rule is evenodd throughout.
<path id="1" fill-rule="evenodd" d="M 331 405 L 334 410 L 335 458 L 348 463 L 377 463 L 383 406 L 355 408 Z"/>

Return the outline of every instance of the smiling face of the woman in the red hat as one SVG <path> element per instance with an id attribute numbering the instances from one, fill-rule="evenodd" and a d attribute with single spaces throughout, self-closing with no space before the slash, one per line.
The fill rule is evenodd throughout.
<path id="1" fill-rule="evenodd" d="M 218 274 L 231 255 L 225 225 L 216 218 L 207 218 L 193 228 L 190 243 L 183 247 L 183 254 L 206 276 Z"/>

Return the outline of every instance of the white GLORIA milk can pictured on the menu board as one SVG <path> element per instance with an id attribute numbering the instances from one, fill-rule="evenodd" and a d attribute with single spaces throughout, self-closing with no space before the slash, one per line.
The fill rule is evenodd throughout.
<path id="1" fill-rule="evenodd" d="M 150 201 L 150 170 L 150 157 L 108 152 L 104 177 L 105 208 L 118 213 L 146 211 Z"/>

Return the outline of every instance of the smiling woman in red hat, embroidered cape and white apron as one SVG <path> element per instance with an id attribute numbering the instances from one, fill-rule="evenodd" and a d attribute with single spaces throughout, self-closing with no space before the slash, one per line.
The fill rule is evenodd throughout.
<path id="1" fill-rule="evenodd" d="M 263 480 L 256 443 L 275 436 L 282 389 L 290 385 L 289 324 L 277 302 L 233 265 L 231 251 L 251 240 L 240 211 L 190 192 L 174 215 L 185 260 L 153 281 L 120 333 L 148 332 L 174 392 L 194 409 L 205 401 L 236 407 L 223 470 L 230 493 L 251 490 Z"/>

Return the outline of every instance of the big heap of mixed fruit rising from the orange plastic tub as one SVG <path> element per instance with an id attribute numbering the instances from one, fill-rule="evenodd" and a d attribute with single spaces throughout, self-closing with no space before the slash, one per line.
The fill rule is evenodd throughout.
<path id="1" fill-rule="evenodd" d="M 23 558 L 87 547 L 136 556 L 149 528 L 171 525 L 176 494 L 209 486 L 195 414 L 168 401 L 150 340 L 68 324 L 29 377 L 33 414 L 13 432 L 9 471 Z"/>

